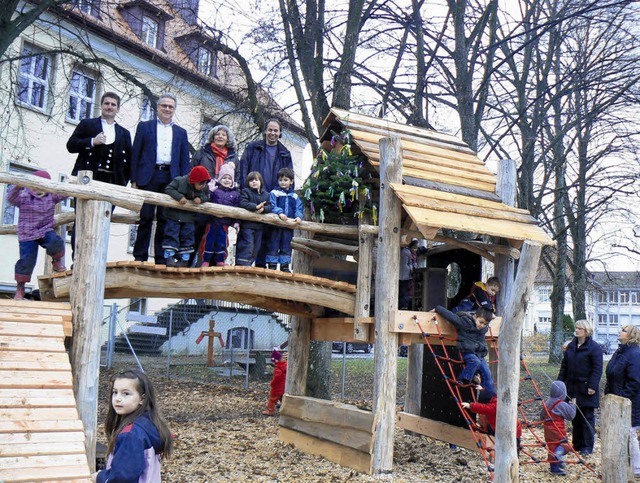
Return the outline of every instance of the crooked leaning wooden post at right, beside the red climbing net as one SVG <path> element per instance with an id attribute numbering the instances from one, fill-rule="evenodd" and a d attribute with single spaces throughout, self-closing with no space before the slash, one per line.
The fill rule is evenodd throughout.
<path id="1" fill-rule="evenodd" d="M 498 413 L 496 424 L 496 465 L 494 481 L 518 481 L 518 453 L 516 450 L 516 419 L 518 417 L 518 383 L 520 380 L 520 333 L 527 303 L 538 271 L 542 246 L 526 241 L 520 265 L 505 307 L 500 327 L 498 347 Z"/>

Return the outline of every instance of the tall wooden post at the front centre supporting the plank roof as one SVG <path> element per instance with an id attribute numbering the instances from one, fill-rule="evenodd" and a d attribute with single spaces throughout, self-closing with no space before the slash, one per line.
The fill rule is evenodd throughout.
<path id="1" fill-rule="evenodd" d="M 373 473 L 393 468 L 393 434 L 396 421 L 398 334 L 390 332 L 391 314 L 398 310 L 400 277 L 400 224 L 402 203 L 390 183 L 402 181 L 400 138 L 380 139 L 380 232 L 375 279 L 375 353 L 373 412 L 377 418 L 373 448 Z"/>

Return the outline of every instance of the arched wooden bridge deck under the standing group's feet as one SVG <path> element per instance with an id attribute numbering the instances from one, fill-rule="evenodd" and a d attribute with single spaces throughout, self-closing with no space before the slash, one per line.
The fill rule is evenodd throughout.
<path id="1" fill-rule="evenodd" d="M 45 300 L 68 300 L 73 272 L 38 277 Z M 330 308 L 355 309 L 356 287 L 300 273 L 255 267 L 175 268 L 150 262 L 110 262 L 105 298 L 202 298 L 242 302 L 265 310 L 316 317 Z"/>

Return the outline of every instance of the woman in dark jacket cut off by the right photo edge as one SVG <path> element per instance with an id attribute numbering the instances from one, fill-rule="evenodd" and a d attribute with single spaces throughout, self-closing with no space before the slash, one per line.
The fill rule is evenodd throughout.
<path id="1" fill-rule="evenodd" d="M 605 394 L 631 399 L 631 460 L 633 473 L 640 476 L 640 329 L 625 325 L 618 335 L 618 350 L 607 364 Z"/>

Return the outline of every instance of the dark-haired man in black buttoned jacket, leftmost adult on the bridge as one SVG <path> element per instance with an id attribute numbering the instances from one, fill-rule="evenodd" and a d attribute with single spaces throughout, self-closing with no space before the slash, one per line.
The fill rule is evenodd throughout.
<path id="1" fill-rule="evenodd" d="M 116 123 L 120 96 L 105 92 L 100 99 L 100 117 L 83 119 L 67 141 L 67 151 L 78 153 L 71 174 L 93 171 L 93 179 L 126 186 L 131 163 L 131 134 Z M 76 246 L 75 225 L 71 231 L 72 250 Z M 73 255 L 72 255 L 73 256 Z"/>

